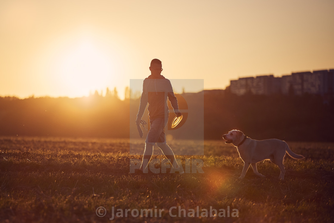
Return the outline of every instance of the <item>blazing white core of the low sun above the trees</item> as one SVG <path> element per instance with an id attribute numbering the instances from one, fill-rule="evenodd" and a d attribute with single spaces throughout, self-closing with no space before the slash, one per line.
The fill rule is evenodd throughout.
<path id="1" fill-rule="evenodd" d="M 83 39 L 63 53 L 56 73 L 69 97 L 87 96 L 112 85 L 112 61 L 102 47 Z"/>

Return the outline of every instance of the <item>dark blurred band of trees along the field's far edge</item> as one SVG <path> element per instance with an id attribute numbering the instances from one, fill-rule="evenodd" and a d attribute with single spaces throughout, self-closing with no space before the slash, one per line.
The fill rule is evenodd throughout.
<path id="1" fill-rule="evenodd" d="M 238 129 L 259 140 L 334 141 L 333 100 L 324 103 L 321 96 L 309 94 L 236 96 L 228 91 L 206 91 L 203 102 L 198 94 L 180 95 L 189 107 L 188 124 L 170 131 L 173 138 L 201 138 L 203 132 L 192 130 L 202 124 L 204 139 L 222 139 L 222 134 Z M 130 126 L 138 107 L 139 99 L 98 94 L 82 98 L 0 97 L 0 135 L 128 138 L 130 131 L 137 131 Z M 204 109 L 204 116 L 196 112 L 199 109 Z"/>

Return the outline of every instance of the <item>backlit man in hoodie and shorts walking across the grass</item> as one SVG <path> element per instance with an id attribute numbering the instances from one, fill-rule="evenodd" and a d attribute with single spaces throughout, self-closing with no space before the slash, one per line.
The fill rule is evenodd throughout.
<path id="1" fill-rule="evenodd" d="M 150 130 L 145 140 L 145 151 L 140 167 L 143 173 L 148 173 L 148 163 L 153 154 L 155 143 L 157 143 L 157 146 L 162 150 L 166 158 L 169 159 L 173 168 L 178 168 L 174 153 L 166 143 L 165 126 L 168 122 L 169 113 L 167 98 L 171 102 L 176 116 L 179 117 L 182 115 L 179 112 L 177 99 L 173 93 L 170 81 L 161 75 L 163 70 L 161 61 L 153 59 L 149 69 L 151 75 L 144 80 L 143 93 L 140 98 L 140 106 L 136 119 L 136 124 L 139 125 L 148 103 Z M 180 173 L 183 173 L 182 168 Z"/>

